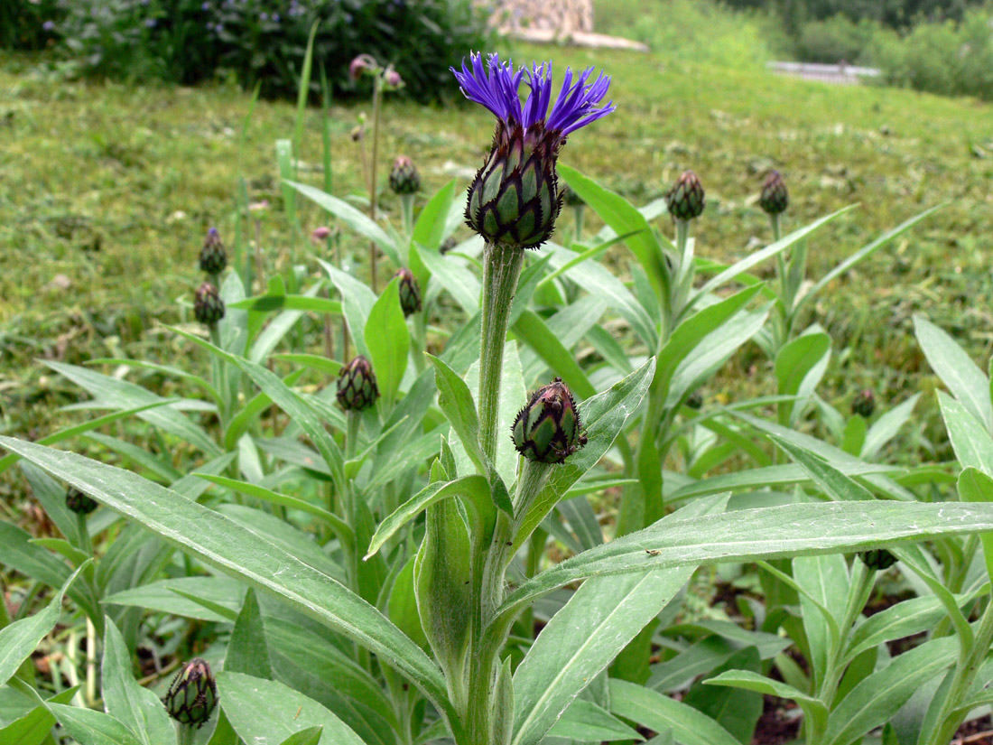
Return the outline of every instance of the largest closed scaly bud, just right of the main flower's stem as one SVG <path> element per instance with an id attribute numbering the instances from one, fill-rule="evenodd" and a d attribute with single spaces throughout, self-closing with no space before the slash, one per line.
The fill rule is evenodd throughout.
<path id="1" fill-rule="evenodd" d="M 517 452 L 537 463 L 565 463 L 586 445 L 576 401 L 561 377 L 531 394 L 510 434 Z"/>

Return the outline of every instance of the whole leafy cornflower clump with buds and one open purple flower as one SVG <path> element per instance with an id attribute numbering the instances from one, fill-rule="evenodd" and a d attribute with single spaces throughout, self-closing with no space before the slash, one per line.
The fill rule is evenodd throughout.
<path id="1" fill-rule="evenodd" d="M 185 376 L 212 402 L 166 399 L 55 364 L 94 394 L 90 405 L 113 399 L 128 408 L 39 443 L 0 437 L 8 451 L 0 470 L 21 460 L 68 537 L 32 542 L 0 523 L 10 538 L 0 545 L 4 562 L 56 591 L 34 616 L 0 617 L 0 683 L 28 702 L 0 735 L 41 745 L 58 721 L 80 745 L 537 745 L 633 741 L 635 723 L 658 733 L 657 742 L 671 735 L 687 745 L 734 745 L 751 737 L 756 696 L 772 693 L 797 702 L 816 745 L 849 745 L 889 726 L 914 696 L 903 721 L 916 729 L 902 724 L 911 739 L 899 741 L 943 745 L 971 708 L 989 702 L 984 685 L 993 677 L 985 665 L 993 611 L 979 558 L 987 538 L 977 536 L 993 529 L 993 465 L 982 444 L 993 432 L 989 380 L 919 322 L 925 354 L 954 396 L 941 404 L 967 466 L 959 502 L 917 501 L 894 469 L 796 431 L 791 417 L 774 422 L 749 411 L 809 399 L 809 380 L 820 373 L 808 361 L 789 369 L 804 381 L 791 392 L 782 392 L 782 380 L 793 378 L 778 365 L 776 395 L 684 405 L 765 327 L 775 299 L 751 309 L 768 295 L 748 270 L 835 216 L 716 268 L 697 288 L 697 269 L 710 267 L 695 257 L 690 234 L 704 206 L 695 176 L 685 174 L 667 204 L 638 211 L 557 163 L 567 137 L 614 110 L 603 103 L 607 76 L 567 70 L 553 102 L 548 63 L 517 69 L 473 55 L 455 74 L 466 96 L 497 117 L 465 208 L 449 184 L 401 234 L 285 182 L 382 249 L 397 273 L 381 293 L 320 260 L 340 301 L 318 297 L 320 283 L 286 294 L 275 278 L 266 295 L 245 298 L 242 280 L 228 272 L 200 303 L 211 341 L 176 330 L 211 355 L 213 379 L 151 366 Z M 557 174 L 607 224 L 596 244 L 573 243 L 580 252 L 551 241 L 562 207 Z M 675 242 L 648 222 L 662 209 Z M 442 254 L 458 213 L 478 237 Z M 620 243 L 637 259 L 634 290 L 591 261 Z M 468 268 L 477 255 L 482 281 Z M 216 274 L 215 266 L 205 270 Z M 745 289 L 718 295 L 732 280 Z M 536 298 L 563 302 L 572 294 L 567 281 L 588 294 L 547 320 L 528 307 Z M 469 318 L 424 364 L 426 343 L 411 344 L 407 323 L 442 291 Z M 637 355 L 596 326 L 609 306 L 638 337 Z M 263 328 L 272 310 L 279 315 Z M 343 315 L 355 357 L 275 354 L 305 311 Z M 572 348 L 587 338 L 603 364 L 584 368 L 575 359 Z M 269 369 L 276 363 L 297 369 L 280 377 Z M 337 379 L 298 386 L 301 369 Z M 525 382 L 540 384 L 528 395 Z M 287 417 L 278 431 L 275 416 L 262 419 L 271 406 Z M 214 416 L 219 442 L 187 410 Z M 884 425 L 889 413 L 865 432 L 860 455 L 878 452 L 906 420 Z M 178 473 L 93 431 L 133 415 L 152 426 L 165 453 L 183 447 L 204 462 Z M 698 435 L 704 430 L 714 438 Z M 155 480 L 50 447 L 86 433 Z M 663 466 L 679 441 L 687 451 L 702 443 L 701 460 L 711 464 L 740 451 L 757 466 L 708 476 L 696 463 L 676 481 Z M 775 463 L 760 447 L 768 442 L 792 462 Z M 676 481 L 664 500 L 663 474 Z M 91 503 L 74 492 L 64 503 L 53 477 L 109 510 L 78 518 L 73 506 Z M 587 495 L 609 486 L 626 492 L 605 541 Z M 117 516 L 133 524 L 122 529 Z M 304 521 L 311 534 L 297 527 Z M 97 557 L 106 589 L 88 575 L 90 539 L 104 530 L 117 534 Z M 155 536 L 148 545 L 145 531 Z M 550 562 L 549 536 L 572 555 Z M 921 597 L 862 621 L 884 550 L 918 578 Z M 849 565 L 845 552 L 862 558 Z M 779 582 L 779 595 L 749 606 L 753 630 L 672 625 L 697 567 L 752 562 Z M 47 697 L 24 665 L 56 628 L 64 596 L 94 626 L 87 670 L 95 685 L 101 648 L 103 711 L 70 705 L 74 687 Z M 109 609 L 102 619 L 101 602 Z M 163 636 L 142 625 L 139 608 L 223 628 L 213 643 L 186 641 L 195 654 L 162 688 L 164 703 L 133 676 L 139 639 L 155 648 Z M 980 619 L 970 624 L 974 611 Z M 544 626 L 535 638 L 537 620 Z M 932 638 L 918 650 L 889 660 L 884 642 L 928 629 Z M 809 674 L 783 654 L 793 644 Z M 782 680 L 764 674 L 773 665 Z M 222 670 L 214 675 L 212 666 Z M 695 683 L 687 671 L 710 676 Z M 679 698 L 666 695 L 673 691 Z"/>

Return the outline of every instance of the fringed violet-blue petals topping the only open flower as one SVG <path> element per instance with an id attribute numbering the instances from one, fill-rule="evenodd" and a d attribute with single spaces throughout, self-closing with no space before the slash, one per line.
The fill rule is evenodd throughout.
<path id="1" fill-rule="evenodd" d="M 613 101 L 597 108 L 597 104 L 607 95 L 611 78 L 601 73 L 596 80 L 588 82 L 593 68 L 584 70 L 575 84 L 572 81 L 572 70 L 566 68 L 562 88 L 549 113 L 551 63 L 534 64 L 530 70 L 521 67 L 514 72 L 511 62 L 500 63 L 498 55 L 490 55 L 487 60 L 488 70 L 484 71 L 481 54 L 472 55 L 470 60 L 472 68 L 467 67 L 465 60 L 462 62 L 461 72 L 451 68 L 462 86 L 462 92 L 469 100 L 489 108 L 498 119 L 508 125 L 519 124 L 526 130 L 542 123 L 545 130 L 556 132 L 560 138 L 564 138 L 617 108 Z M 521 106 L 517 89 L 525 75 L 530 91 Z"/>

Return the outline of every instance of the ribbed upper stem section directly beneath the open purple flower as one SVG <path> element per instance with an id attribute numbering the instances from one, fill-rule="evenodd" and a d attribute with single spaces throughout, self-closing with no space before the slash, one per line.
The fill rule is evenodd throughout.
<path id="1" fill-rule="evenodd" d="M 480 445 L 491 462 L 497 460 L 500 372 L 503 346 L 517 290 L 521 248 L 487 243 L 483 254 L 483 342 L 480 349 Z"/>

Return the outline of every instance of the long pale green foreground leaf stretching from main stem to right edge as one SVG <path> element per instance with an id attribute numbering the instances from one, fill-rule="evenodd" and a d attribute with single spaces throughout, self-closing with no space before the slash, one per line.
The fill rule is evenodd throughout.
<path id="1" fill-rule="evenodd" d="M 669 566 L 863 551 L 993 529 L 993 505 L 829 502 L 656 522 L 522 583 L 498 610 L 512 613 L 570 582 Z"/>

